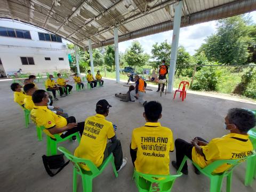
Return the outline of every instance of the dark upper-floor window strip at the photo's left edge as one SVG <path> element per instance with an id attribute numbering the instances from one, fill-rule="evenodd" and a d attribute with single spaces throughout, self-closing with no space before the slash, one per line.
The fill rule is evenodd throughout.
<path id="1" fill-rule="evenodd" d="M 31 39 L 30 32 L 22 29 L 0 27 L 0 36 Z"/>

